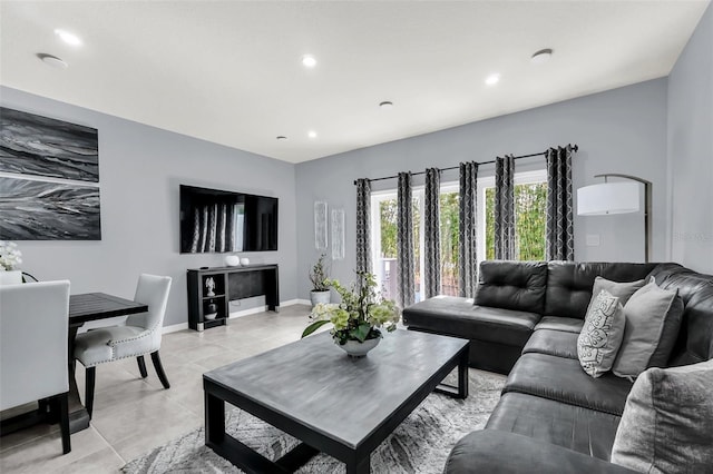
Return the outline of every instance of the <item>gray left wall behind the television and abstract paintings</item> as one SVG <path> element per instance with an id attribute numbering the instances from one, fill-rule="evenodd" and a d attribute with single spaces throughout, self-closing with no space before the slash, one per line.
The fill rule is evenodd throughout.
<path id="1" fill-rule="evenodd" d="M 134 296 L 140 273 L 168 275 L 164 325 L 186 323 L 186 269 L 223 266 L 224 258 L 179 254 L 178 185 L 191 184 L 280 198 L 280 250 L 241 256 L 279 264 L 281 299 L 296 298 L 294 165 L 6 87 L 0 103 L 99 130 L 101 240 L 20 241 L 25 270 L 68 278 L 72 293 L 125 297 Z"/>

